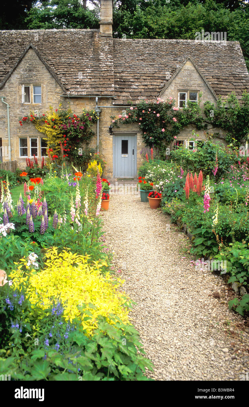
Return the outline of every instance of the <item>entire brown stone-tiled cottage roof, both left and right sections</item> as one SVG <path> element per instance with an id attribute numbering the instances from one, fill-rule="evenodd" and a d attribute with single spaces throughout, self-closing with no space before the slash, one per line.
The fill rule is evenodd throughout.
<path id="1" fill-rule="evenodd" d="M 99 30 L 0 31 L 0 88 L 30 45 L 61 83 L 63 93 L 113 95 L 115 103 L 157 97 L 191 58 L 210 88 L 241 98 L 249 74 L 239 42 L 113 39 Z"/>

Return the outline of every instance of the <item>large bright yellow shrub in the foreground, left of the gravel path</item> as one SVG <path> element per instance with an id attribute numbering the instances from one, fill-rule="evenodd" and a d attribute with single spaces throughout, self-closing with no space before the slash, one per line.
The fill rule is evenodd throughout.
<path id="1" fill-rule="evenodd" d="M 60 295 L 62 303 L 67 301 L 63 312 L 65 320 L 79 318 L 89 336 L 97 328 L 98 315 L 107 317 L 110 324 L 114 322 L 108 319 L 109 315 L 117 315 L 123 323 L 129 324 L 129 300 L 116 289 L 123 281 L 117 279 L 117 284 L 114 284 L 109 273 L 105 276 L 101 274 L 102 266 L 107 265 L 104 261 L 89 264 L 88 256 L 80 256 L 67 250 L 58 254 L 56 247 L 46 252 L 46 258 L 44 269 L 31 270 L 30 277 L 27 270 L 24 274 L 24 259 L 9 276 L 15 286 L 20 283 L 25 285 L 29 278 L 27 293 L 30 294 L 34 309 L 39 296 L 44 303 L 41 306 L 46 309 L 51 302 L 50 298 Z M 80 310 L 78 306 L 84 308 Z M 84 320 L 85 317 L 89 319 Z"/>

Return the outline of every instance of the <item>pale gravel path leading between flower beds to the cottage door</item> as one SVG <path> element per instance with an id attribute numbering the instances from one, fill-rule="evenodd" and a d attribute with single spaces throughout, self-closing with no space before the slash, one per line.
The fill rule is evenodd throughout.
<path id="1" fill-rule="evenodd" d="M 137 304 L 132 323 L 155 365 L 148 376 L 242 380 L 249 372 L 249 325 L 229 311 L 234 292 L 223 279 L 195 270 L 184 254 L 188 238 L 140 196 L 111 195 L 101 214 L 117 275 Z"/>

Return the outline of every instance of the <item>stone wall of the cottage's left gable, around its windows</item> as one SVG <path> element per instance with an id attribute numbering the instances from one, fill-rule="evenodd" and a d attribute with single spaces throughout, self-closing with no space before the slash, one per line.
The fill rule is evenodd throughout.
<path id="1" fill-rule="evenodd" d="M 41 103 L 22 103 L 22 85 L 41 85 Z M 50 105 L 58 107 L 61 102 L 61 97 L 59 95 L 62 92 L 63 90 L 60 85 L 52 77 L 32 48 L 30 48 L 26 55 L 24 55 L 11 77 L 0 90 L 0 97 L 5 96 L 6 98 L 4 101 L 10 106 L 11 160 L 17 160 L 20 168 L 25 168 L 26 158 L 19 157 L 19 138 L 30 136 L 42 138 L 42 134 L 35 129 L 32 123 L 20 126 L 18 123 L 19 118 L 27 116 L 30 113 L 30 110 L 37 110 L 38 112 L 43 113 L 49 109 Z M 7 108 L 1 100 L 0 137 L 2 138 L 3 147 L 6 147 L 5 152 L 7 153 Z M 41 159 L 39 158 L 41 158 L 40 152 L 38 162 L 41 162 Z M 8 153 L 5 155 L 3 153 L 3 161 L 8 160 Z"/>

